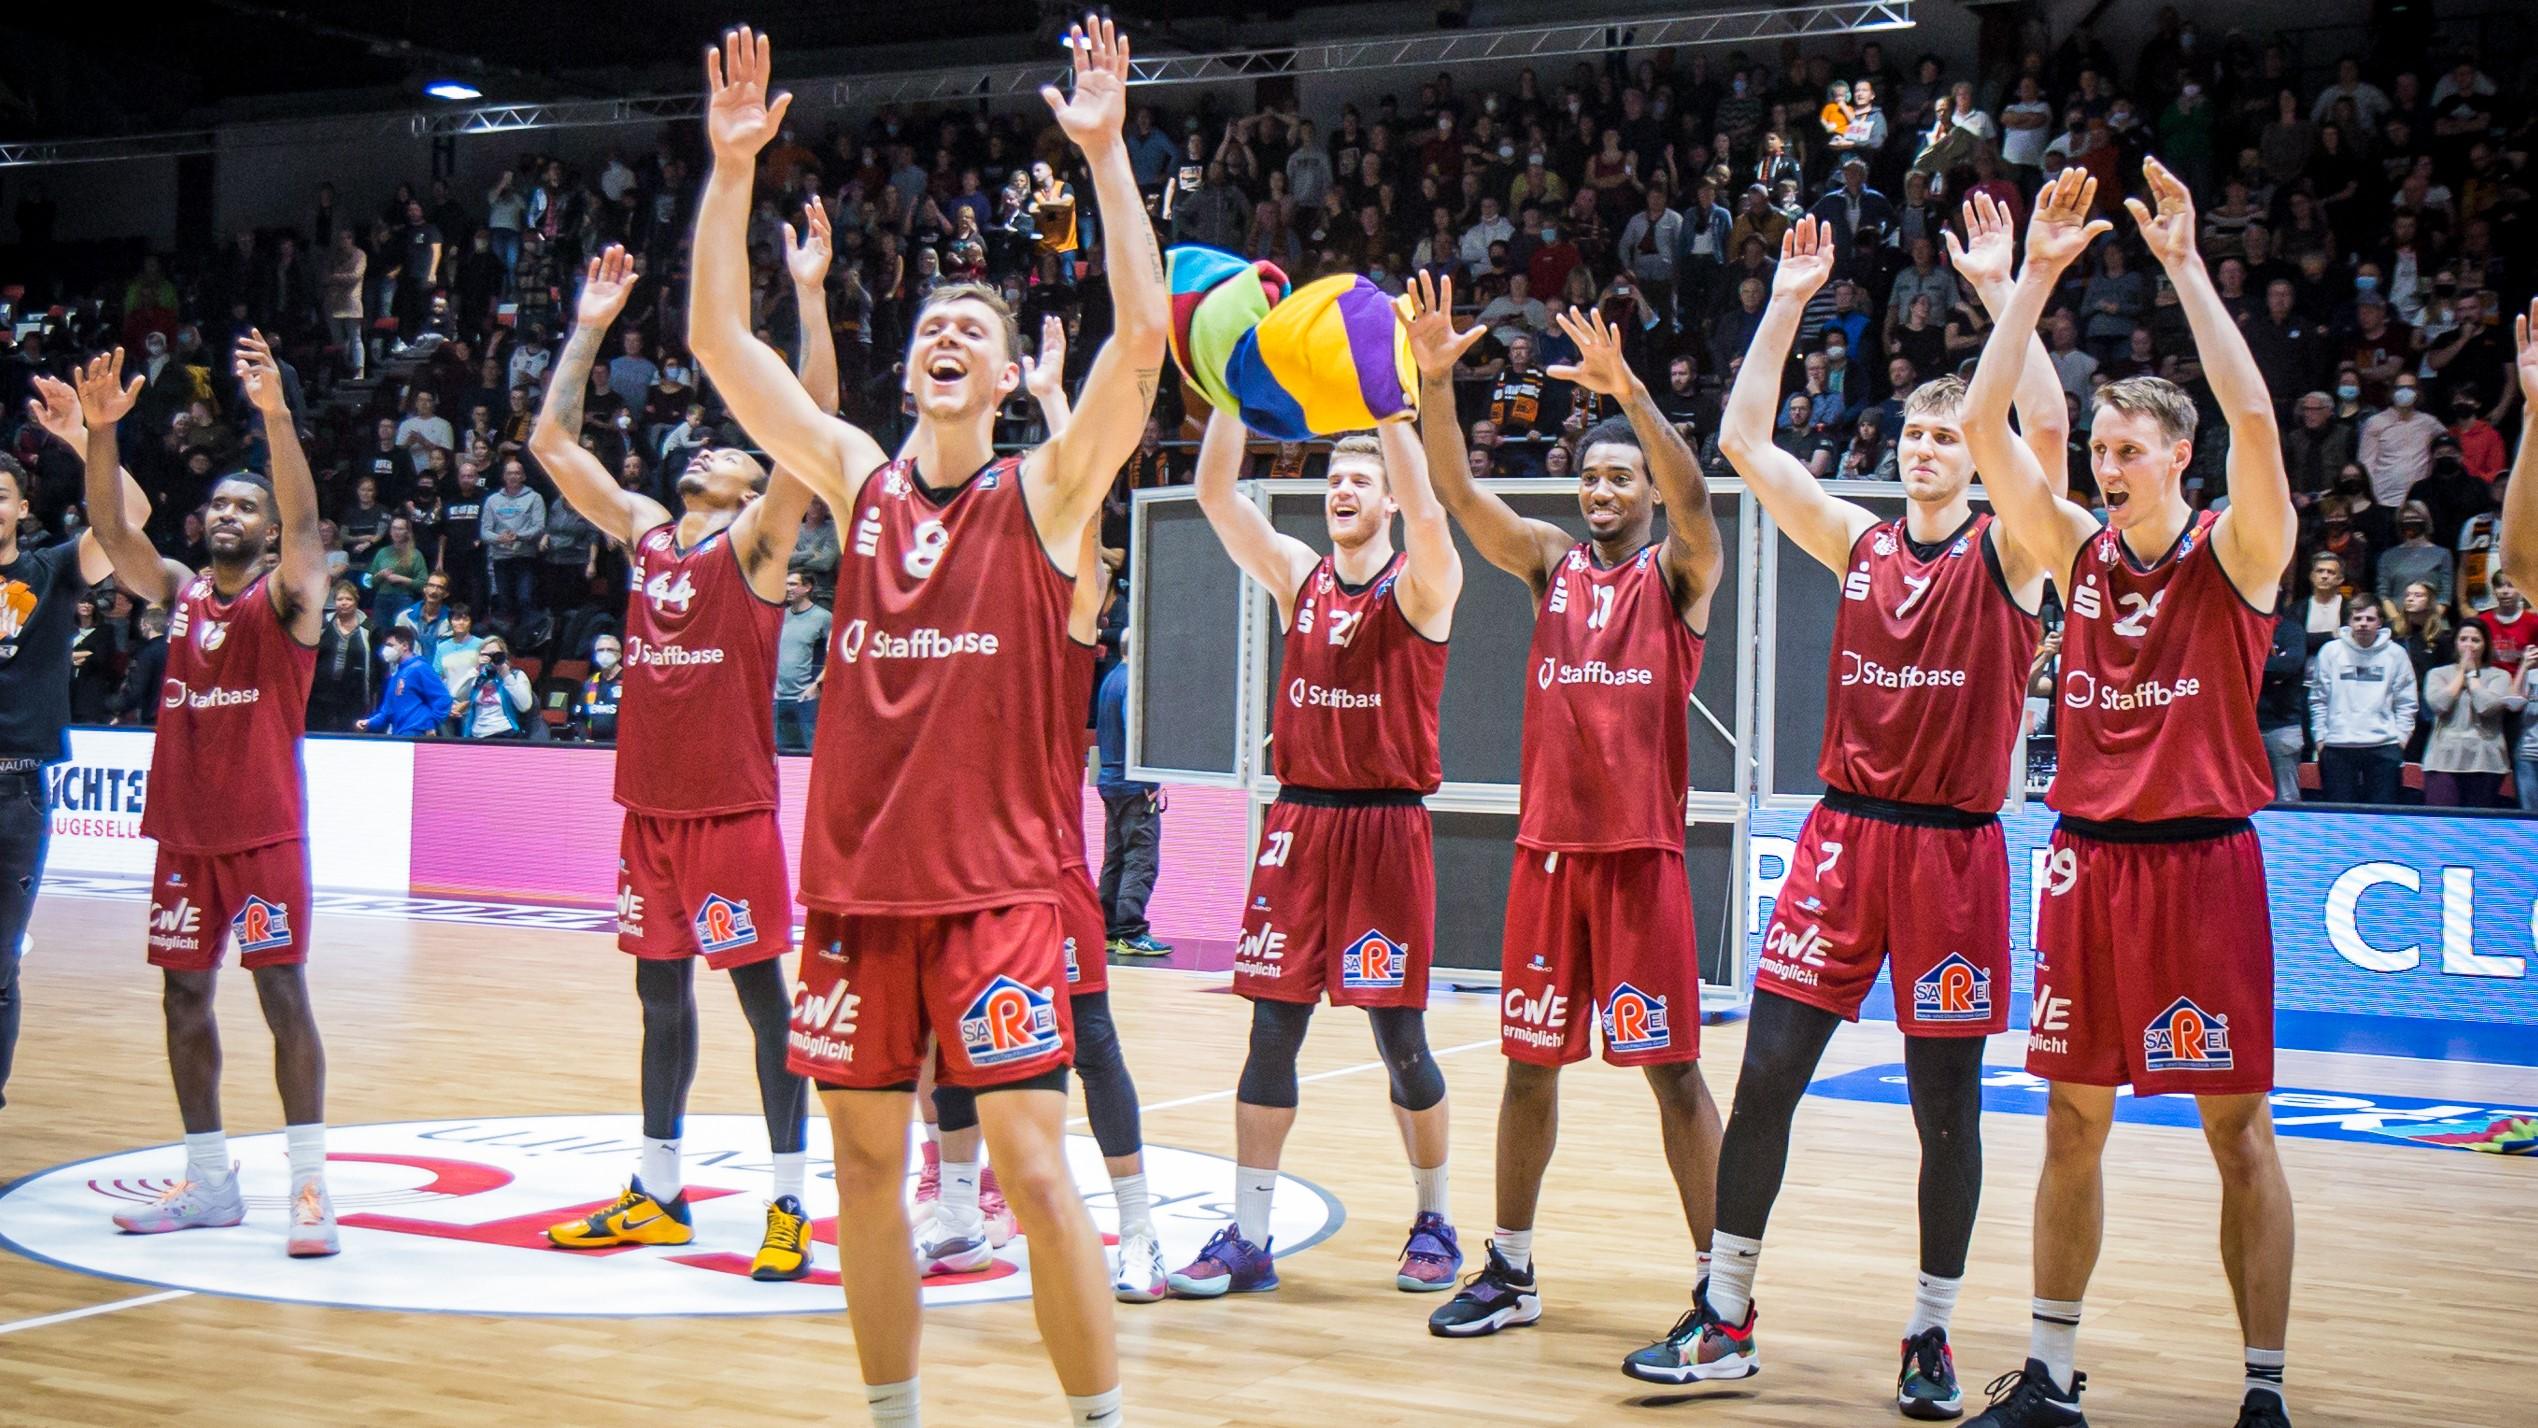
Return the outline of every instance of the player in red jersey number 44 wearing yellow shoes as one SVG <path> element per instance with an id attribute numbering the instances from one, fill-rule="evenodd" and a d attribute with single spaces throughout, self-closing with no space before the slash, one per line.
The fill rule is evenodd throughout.
<path id="1" fill-rule="evenodd" d="M 805 205 L 810 238 L 784 226 L 802 327 L 802 386 L 838 406 L 827 335 L 827 211 Z M 756 1042 L 759 1106 L 774 1152 L 766 1240 L 751 1278 L 810 1273 L 802 1212 L 807 1091 L 787 1060 L 792 888 L 777 827 L 774 690 L 792 561 L 810 487 L 774 479 L 744 451 L 706 446 L 678 477 L 685 515 L 617 484 L 581 446 L 581 396 L 627 294 L 634 259 L 612 246 L 581 279 L 574 335 L 546 380 L 528 449 L 591 525 L 627 548 L 624 695 L 617 708 L 617 946 L 634 956 L 642 1002 L 642 1159 L 624 1195 L 546 1238 L 566 1250 L 695 1240 L 680 1174 L 680 1124 L 695 1081 L 695 959 L 731 974 Z M 716 738 L 698 741 L 698 730 Z"/>

